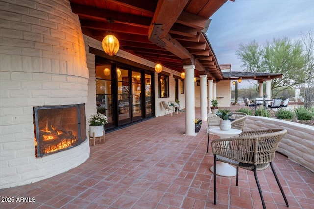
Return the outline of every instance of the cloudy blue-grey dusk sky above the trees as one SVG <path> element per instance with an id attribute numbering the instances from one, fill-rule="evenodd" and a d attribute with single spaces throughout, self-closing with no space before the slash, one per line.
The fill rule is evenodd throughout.
<path id="1" fill-rule="evenodd" d="M 283 37 L 293 41 L 302 38 L 301 32 L 314 32 L 314 0 L 228 0 L 210 19 L 206 34 L 218 63 L 243 71 L 235 54 L 240 43 L 263 45 Z"/>

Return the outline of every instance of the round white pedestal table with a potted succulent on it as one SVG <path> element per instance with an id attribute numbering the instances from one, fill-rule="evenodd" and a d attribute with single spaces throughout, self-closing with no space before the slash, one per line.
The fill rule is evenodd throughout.
<path id="1" fill-rule="evenodd" d="M 212 134 L 218 135 L 220 138 L 229 138 L 242 133 L 241 130 L 233 128 L 227 131 L 220 130 L 220 128 L 211 128 L 209 131 Z M 214 172 L 214 166 L 211 166 L 210 171 Z M 221 162 L 220 164 L 216 164 L 216 174 L 226 177 L 236 176 L 236 168 L 228 163 Z"/>

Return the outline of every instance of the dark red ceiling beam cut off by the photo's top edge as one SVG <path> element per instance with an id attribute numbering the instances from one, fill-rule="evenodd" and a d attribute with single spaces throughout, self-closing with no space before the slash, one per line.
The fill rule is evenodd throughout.
<path id="1" fill-rule="evenodd" d="M 118 5 L 123 5 L 128 8 L 136 9 L 141 12 L 145 12 L 147 14 L 153 15 L 156 8 L 156 1 L 153 0 L 106 0 L 109 2 L 113 2 Z"/>

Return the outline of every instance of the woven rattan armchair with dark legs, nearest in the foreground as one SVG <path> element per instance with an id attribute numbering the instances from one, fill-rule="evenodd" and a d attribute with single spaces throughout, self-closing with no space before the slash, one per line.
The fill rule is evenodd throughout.
<path id="1" fill-rule="evenodd" d="M 236 166 L 236 186 L 238 186 L 239 167 L 254 172 L 264 209 L 266 209 L 266 206 L 256 172 L 265 170 L 270 165 L 288 207 L 288 201 L 272 164 L 279 141 L 286 133 L 286 129 L 263 129 L 244 131 L 240 134 L 240 137 L 213 140 L 211 147 L 214 155 L 214 204 L 217 203 L 216 161 L 221 161 Z"/>

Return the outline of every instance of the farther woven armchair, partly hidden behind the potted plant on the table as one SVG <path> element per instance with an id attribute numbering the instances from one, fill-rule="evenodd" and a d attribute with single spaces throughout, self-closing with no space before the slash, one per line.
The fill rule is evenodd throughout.
<path id="1" fill-rule="evenodd" d="M 244 123 L 247 118 L 246 113 L 241 112 L 233 112 L 233 114 L 229 117 L 231 120 L 231 128 L 238 129 L 243 131 Z M 208 125 L 208 136 L 207 136 L 207 151 L 209 147 L 209 129 L 210 127 L 218 127 L 220 123 L 221 118 L 219 118 L 216 114 L 210 114 L 207 118 L 207 125 Z"/>

